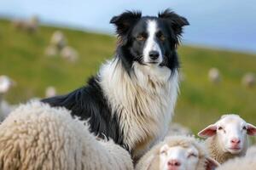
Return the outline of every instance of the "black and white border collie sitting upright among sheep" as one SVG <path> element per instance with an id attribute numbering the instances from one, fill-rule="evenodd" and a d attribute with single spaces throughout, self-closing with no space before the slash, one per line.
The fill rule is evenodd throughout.
<path id="1" fill-rule="evenodd" d="M 110 21 L 118 44 L 87 86 L 43 99 L 88 119 L 90 130 L 131 151 L 133 158 L 166 134 L 178 93 L 176 48 L 189 22 L 170 10 L 158 17 L 127 11 Z"/>

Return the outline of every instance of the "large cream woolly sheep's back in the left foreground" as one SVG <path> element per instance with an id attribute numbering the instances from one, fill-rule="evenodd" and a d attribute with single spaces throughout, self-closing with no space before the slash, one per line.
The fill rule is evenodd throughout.
<path id="1" fill-rule="evenodd" d="M 85 125 L 85 126 L 84 126 Z M 0 125 L 0 169 L 132 169 L 127 150 L 98 141 L 65 108 L 32 101 Z"/>

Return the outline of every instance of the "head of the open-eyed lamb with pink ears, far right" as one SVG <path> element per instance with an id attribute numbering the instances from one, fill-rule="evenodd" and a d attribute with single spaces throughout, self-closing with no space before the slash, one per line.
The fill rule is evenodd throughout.
<path id="1" fill-rule="evenodd" d="M 237 115 L 224 115 L 198 135 L 208 138 L 216 135 L 218 145 L 224 152 L 239 154 L 247 149 L 247 135 L 256 135 L 256 127 Z"/>

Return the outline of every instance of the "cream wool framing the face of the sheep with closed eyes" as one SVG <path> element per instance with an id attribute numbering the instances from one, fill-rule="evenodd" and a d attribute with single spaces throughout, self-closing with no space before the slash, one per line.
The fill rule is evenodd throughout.
<path id="1" fill-rule="evenodd" d="M 136 170 L 160 170 L 158 164 L 158 157 L 160 154 L 160 148 L 168 144 L 169 147 L 173 146 L 182 146 L 187 147 L 188 145 L 194 145 L 196 150 L 199 151 L 199 161 L 195 170 L 206 170 L 207 162 L 207 149 L 205 144 L 202 144 L 201 141 L 195 139 L 194 137 L 189 136 L 169 136 L 160 144 L 155 145 L 151 150 L 149 150 L 137 163 Z"/>

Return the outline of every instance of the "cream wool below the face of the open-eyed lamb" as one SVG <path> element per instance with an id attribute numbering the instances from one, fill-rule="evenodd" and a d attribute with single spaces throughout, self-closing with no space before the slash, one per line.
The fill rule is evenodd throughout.
<path id="1" fill-rule="evenodd" d="M 247 143 L 245 143 L 245 146 L 243 147 L 243 150 L 239 154 L 231 154 L 230 152 L 224 152 L 224 150 L 221 149 L 218 143 L 218 137 L 217 135 L 214 135 L 208 139 L 206 139 L 206 145 L 207 149 L 209 151 L 210 156 L 218 161 L 220 164 L 224 163 L 225 161 L 228 161 L 229 159 L 232 159 L 234 157 L 239 156 L 245 156 L 247 152 Z"/>

